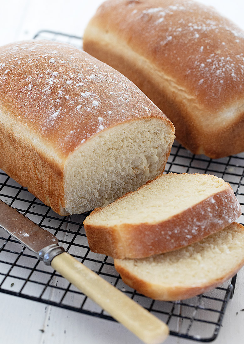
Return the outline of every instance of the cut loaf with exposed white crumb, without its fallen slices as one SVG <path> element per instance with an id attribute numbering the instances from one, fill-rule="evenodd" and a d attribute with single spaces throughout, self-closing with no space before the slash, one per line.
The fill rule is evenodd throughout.
<path id="1" fill-rule="evenodd" d="M 75 47 L 0 48 L 0 168 L 61 215 L 162 173 L 171 121 L 130 80 Z"/>

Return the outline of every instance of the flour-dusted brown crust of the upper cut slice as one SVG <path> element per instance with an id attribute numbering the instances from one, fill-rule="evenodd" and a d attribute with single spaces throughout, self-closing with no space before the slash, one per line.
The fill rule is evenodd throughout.
<path id="1" fill-rule="evenodd" d="M 98 211 L 95 209 L 84 221 L 89 247 L 94 252 L 120 259 L 144 258 L 190 245 L 223 229 L 242 214 L 227 183 L 225 190 L 161 223 L 94 225 L 92 215 Z"/>

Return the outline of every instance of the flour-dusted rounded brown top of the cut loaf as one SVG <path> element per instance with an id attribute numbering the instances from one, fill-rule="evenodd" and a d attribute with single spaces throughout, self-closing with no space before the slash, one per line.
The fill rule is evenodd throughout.
<path id="1" fill-rule="evenodd" d="M 61 159 L 122 122 L 157 117 L 173 128 L 125 76 L 72 45 L 52 41 L 0 47 L 0 103 Z"/>

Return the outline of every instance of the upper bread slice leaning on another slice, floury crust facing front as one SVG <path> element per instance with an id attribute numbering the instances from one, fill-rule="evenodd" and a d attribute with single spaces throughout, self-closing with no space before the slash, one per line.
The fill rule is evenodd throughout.
<path id="1" fill-rule="evenodd" d="M 84 221 L 92 251 L 142 258 L 190 245 L 242 214 L 229 183 L 207 174 L 163 174 Z"/>

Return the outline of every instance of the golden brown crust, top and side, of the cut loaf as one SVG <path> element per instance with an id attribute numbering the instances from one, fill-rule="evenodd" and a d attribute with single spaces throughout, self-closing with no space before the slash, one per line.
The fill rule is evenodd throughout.
<path id="1" fill-rule="evenodd" d="M 60 215 L 68 214 L 64 165 L 72 153 L 141 118 L 159 118 L 173 136 L 148 97 L 87 53 L 51 41 L 0 47 L 0 168 Z"/>

